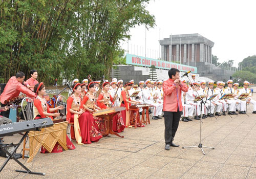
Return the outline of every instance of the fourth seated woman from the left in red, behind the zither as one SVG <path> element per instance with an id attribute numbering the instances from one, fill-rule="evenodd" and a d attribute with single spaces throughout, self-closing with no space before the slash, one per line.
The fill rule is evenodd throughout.
<path id="1" fill-rule="evenodd" d="M 115 101 L 115 98 L 112 98 L 111 94 L 109 93 L 109 90 L 110 90 L 109 82 L 104 82 L 102 87 L 103 87 L 103 91 L 102 93 L 100 93 L 97 99 L 97 104 L 101 109 L 106 109 L 112 106 L 112 104 L 114 103 L 113 100 Z M 125 128 L 121 112 L 117 113 L 113 117 L 112 122 L 113 122 L 112 130 L 115 132 L 121 132 Z"/>

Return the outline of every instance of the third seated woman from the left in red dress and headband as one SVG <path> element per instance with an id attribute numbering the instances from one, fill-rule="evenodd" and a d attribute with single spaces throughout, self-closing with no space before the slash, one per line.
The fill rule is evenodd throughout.
<path id="1" fill-rule="evenodd" d="M 103 135 L 106 132 L 106 121 L 103 118 L 99 118 L 97 116 L 93 116 L 92 113 L 94 111 L 99 110 L 100 108 L 96 105 L 96 84 L 94 81 L 88 84 L 88 93 L 84 96 L 81 105 L 86 110 L 86 113 L 93 118 L 95 121 L 96 129 Z"/>

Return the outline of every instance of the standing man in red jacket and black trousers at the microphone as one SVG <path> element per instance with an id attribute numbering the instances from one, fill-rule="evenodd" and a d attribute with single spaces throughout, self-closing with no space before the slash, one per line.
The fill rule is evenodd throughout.
<path id="1" fill-rule="evenodd" d="M 168 71 L 169 79 L 163 82 L 163 114 L 165 150 L 170 146 L 179 147 L 173 143 L 175 133 L 179 126 L 181 111 L 181 91 L 187 92 L 188 87 L 180 80 L 180 71 L 172 68 Z"/>

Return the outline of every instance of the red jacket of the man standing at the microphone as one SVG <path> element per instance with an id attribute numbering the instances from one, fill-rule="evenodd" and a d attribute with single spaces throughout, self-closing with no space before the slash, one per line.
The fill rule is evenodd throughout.
<path id="1" fill-rule="evenodd" d="M 188 91 L 188 87 L 184 83 L 177 86 L 170 78 L 163 82 L 163 111 L 177 112 L 178 107 L 179 111 L 183 110 L 181 91 Z"/>

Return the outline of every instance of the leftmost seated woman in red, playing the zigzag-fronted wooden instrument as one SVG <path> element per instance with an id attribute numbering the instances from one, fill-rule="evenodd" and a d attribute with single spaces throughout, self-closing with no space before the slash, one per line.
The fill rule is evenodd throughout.
<path id="1" fill-rule="evenodd" d="M 51 119 L 53 119 L 52 117 L 58 117 L 59 113 L 51 113 L 54 112 L 55 110 L 58 109 L 63 109 L 63 106 L 58 106 L 55 108 L 50 108 L 46 99 L 43 97 L 44 94 L 46 93 L 46 88 L 44 83 L 40 82 L 37 83 L 34 86 L 34 92 L 37 94 L 36 99 L 34 100 L 34 119 L 40 119 L 40 118 L 47 118 L 50 117 Z M 75 149 L 75 146 L 72 144 L 72 142 L 69 140 L 68 136 L 67 138 L 67 147 L 68 149 Z M 62 147 L 56 143 L 52 153 L 58 153 L 58 152 L 62 152 Z M 46 153 L 47 150 L 44 147 L 41 147 L 41 153 Z"/>

